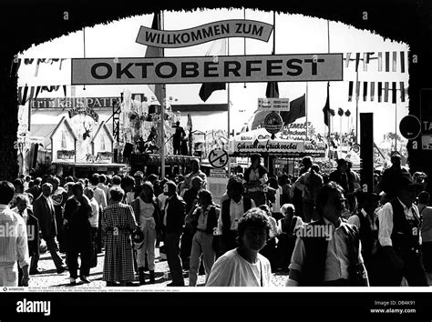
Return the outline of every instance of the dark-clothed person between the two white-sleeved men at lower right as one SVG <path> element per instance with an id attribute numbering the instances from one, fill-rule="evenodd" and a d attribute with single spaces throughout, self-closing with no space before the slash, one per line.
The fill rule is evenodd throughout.
<path id="1" fill-rule="evenodd" d="M 375 285 L 376 266 L 375 253 L 378 247 L 378 226 L 376 208 L 380 196 L 374 193 L 359 191 L 356 194 L 358 211 L 347 220 L 348 224 L 354 225 L 359 230 L 360 241 L 362 242 L 362 256 L 371 286 Z"/>

